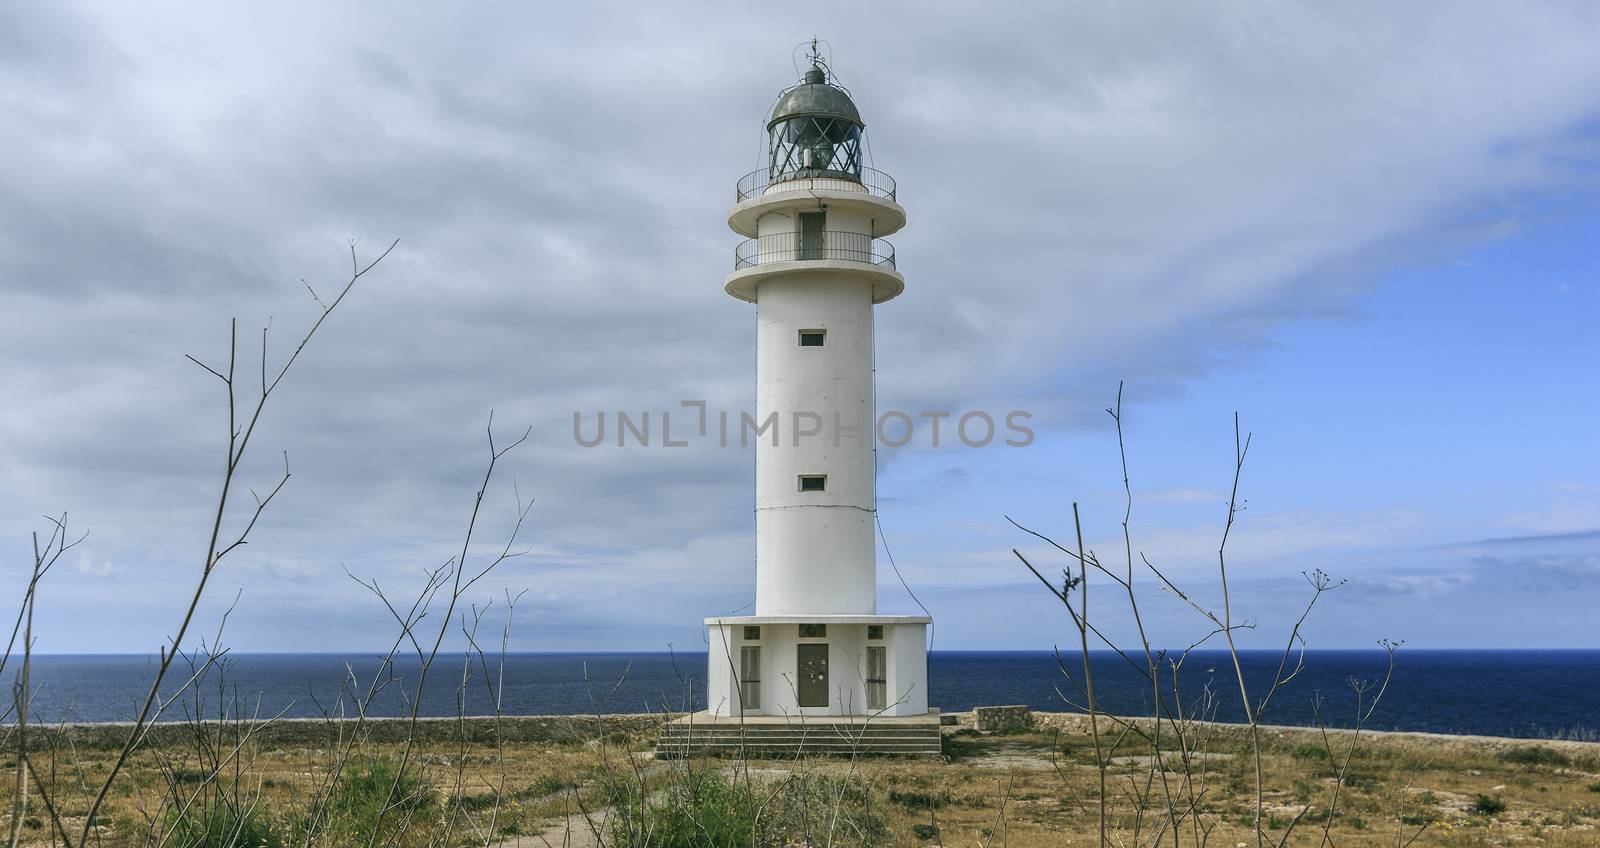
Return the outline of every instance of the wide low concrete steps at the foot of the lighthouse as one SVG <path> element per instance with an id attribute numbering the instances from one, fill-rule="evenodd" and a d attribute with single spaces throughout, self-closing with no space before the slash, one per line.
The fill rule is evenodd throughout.
<path id="1" fill-rule="evenodd" d="M 934 757 L 939 754 L 938 717 L 925 722 L 850 723 L 808 720 L 806 723 L 693 723 L 667 725 L 656 741 L 656 757 L 722 754 L 749 757 L 794 757 L 798 754 L 899 754 Z"/>

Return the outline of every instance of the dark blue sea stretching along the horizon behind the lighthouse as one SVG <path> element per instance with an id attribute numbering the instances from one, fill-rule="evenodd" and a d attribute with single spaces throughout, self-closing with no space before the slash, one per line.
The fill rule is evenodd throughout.
<path id="1" fill-rule="evenodd" d="M 1091 651 L 1101 707 L 1138 714 L 1150 701 L 1149 685 L 1126 661 Z M 1278 653 L 1243 654 L 1251 696 L 1270 683 Z M 1062 654 L 1074 677 L 1082 658 Z M 157 658 L 138 654 L 38 656 L 32 714 L 40 722 L 118 722 L 138 714 Z M 1306 667 L 1272 699 L 1269 723 L 1310 725 L 1320 702 L 1331 726 L 1349 726 L 1357 706 L 1352 680 L 1371 682 L 1370 699 L 1386 669 L 1386 654 L 1309 651 Z M 14 667 L 14 666 L 13 666 Z M 371 654 L 230 654 L 200 685 L 178 698 L 165 720 L 194 714 L 318 717 L 350 712 L 354 670 L 366 686 L 379 669 Z M 8 669 L 10 672 L 11 669 Z M 174 667 L 168 690 L 186 677 Z M 419 664 L 402 659 L 373 699 L 373 715 L 406 715 Z M 462 658 L 440 658 L 422 693 L 424 715 L 493 714 L 485 669 L 464 675 Z M 494 675 L 493 664 L 488 672 Z M 466 677 L 466 683 L 462 683 Z M 1080 701 L 1074 683 L 1043 651 L 934 651 L 928 658 L 930 702 L 944 710 L 1027 704 L 1070 710 Z M 706 654 L 510 654 L 504 667 L 501 709 L 507 715 L 656 712 L 704 707 Z M 1170 682 L 1168 682 L 1170 686 Z M 1226 653 L 1194 653 L 1184 666 L 1186 706 L 1206 702 L 1224 722 L 1242 720 L 1238 685 Z M 170 694 L 170 693 L 168 693 Z M 1600 734 L 1600 651 L 1424 651 L 1402 650 L 1389 690 L 1366 722 L 1373 730 L 1418 730 L 1486 736 Z"/>

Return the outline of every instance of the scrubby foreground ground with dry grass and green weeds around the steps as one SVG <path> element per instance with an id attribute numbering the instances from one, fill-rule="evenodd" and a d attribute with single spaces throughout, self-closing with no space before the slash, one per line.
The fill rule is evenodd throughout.
<path id="1" fill-rule="evenodd" d="M 1093 736 L 1082 717 L 1040 718 L 1011 733 L 946 728 L 939 758 L 658 760 L 654 733 L 637 722 L 618 731 L 590 723 L 547 742 L 432 742 L 410 757 L 400 742 L 368 742 L 331 784 L 331 747 L 246 741 L 237 765 L 216 768 L 197 754 L 210 744 L 162 746 L 128 762 L 90 834 L 107 846 L 1094 845 Z M 1600 843 L 1600 744 L 1374 733 L 1341 778 L 1347 738 L 1264 730 L 1266 829 L 1299 819 L 1286 845 Z M 1190 824 L 1205 845 L 1253 842 L 1248 728 L 1218 725 L 1189 771 L 1165 763 L 1170 781 L 1198 784 L 1200 803 L 1176 840 L 1163 811 L 1138 803 L 1150 754 L 1149 744 L 1123 742 L 1112 757 L 1112 843 L 1192 845 Z M 56 806 L 35 803 L 18 843 L 61 845 L 58 830 L 75 834 L 86 813 L 78 787 L 104 776 L 114 757 L 38 752 L 34 766 Z"/>

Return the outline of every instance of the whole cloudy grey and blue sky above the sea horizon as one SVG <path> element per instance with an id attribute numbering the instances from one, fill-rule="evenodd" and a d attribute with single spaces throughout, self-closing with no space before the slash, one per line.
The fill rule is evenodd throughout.
<path id="1" fill-rule="evenodd" d="M 1030 414 L 1026 448 L 880 451 L 880 611 L 934 650 L 1077 640 L 1006 517 L 1085 541 L 1157 645 L 1600 648 L 1600 8 L 376 3 L 0 6 L 0 557 L 88 530 L 37 650 L 155 651 L 203 562 L 229 322 L 274 394 L 245 486 L 293 477 L 211 578 L 238 651 L 378 650 L 461 547 L 525 592 L 512 650 L 704 650 L 754 594 L 752 448 L 582 448 L 573 416 L 754 405 L 722 291 L 734 182 L 826 40 L 894 176 L 906 293 L 880 410 Z M 1106 408 L 1123 386 L 1126 507 Z M 659 419 L 658 419 L 659 421 Z M 680 421 L 680 419 L 675 419 Z M 248 501 L 245 501 L 248 502 Z M 246 520 L 229 514 L 229 526 Z M 1126 598 L 1091 582 L 1107 634 Z M 915 594 L 915 598 L 912 597 Z M 496 600 L 499 598 L 499 600 Z"/>

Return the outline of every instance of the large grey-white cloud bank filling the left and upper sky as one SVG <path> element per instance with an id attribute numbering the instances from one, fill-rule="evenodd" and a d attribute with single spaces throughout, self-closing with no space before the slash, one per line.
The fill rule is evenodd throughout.
<path id="1" fill-rule="evenodd" d="M 834 64 L 912 221 L 880 403 L 1000 400 L 1042 430 L 1099 422 L 1110 374 L 1181 394 L 1374 267 L 1514 219 L 1576 179 L 1600 114 L 1584 8 L 843 8 Z M 294 469 L 219 574 L 251 587 L 243 646 L 366 638 L 382 611 L 341 565 L 400 581 L 453 554 L 490 410 L 533 426 L 506 480 L 538 501 L 538 552 L 507 578 L 541 598 L 539 646 L 691 642 L 742 603 L 750 451 L 582 450 L 570 416 L 749 403 L 723 214 L 808 35 L 605 3 L 0 10 L 0 538 L 70 507 L 86 562 L 123 570 L 114 600 L 62 582 L 62 619 L 122 611 L 67 645 L 162 632 L 194 579 L 227 424 L 182 354 L 222 362 L 237 315 L 243 368 L 267 322 L 285 355 L 301 280 L 336 286 L 350 237 L 402 245 L 242 469 Z M 510 502 L 491 493 L 486 534 Z M 952 558 L 989 555 L 950 533 Z"/>

